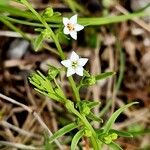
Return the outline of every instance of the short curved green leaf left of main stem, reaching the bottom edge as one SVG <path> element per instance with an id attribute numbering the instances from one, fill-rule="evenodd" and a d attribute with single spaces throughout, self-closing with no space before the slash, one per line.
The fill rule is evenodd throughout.
<path id="1" fill-rule="evenodd" d="M 84 135 L 84 131 L 83 130 L 80 130 L 78 131 L 75 136 L 73 137 L 72 139 L 72 142 L 71 142 L 71 150 L 75 150 L 76 147 L 77 147 L 77 144 L 79 142 L 79 140 L 81 139 L 81 137 Z"/>

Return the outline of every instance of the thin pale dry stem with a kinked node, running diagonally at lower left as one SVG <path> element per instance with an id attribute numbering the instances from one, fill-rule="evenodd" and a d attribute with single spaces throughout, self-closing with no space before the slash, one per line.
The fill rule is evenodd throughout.
<path id="1" fill-rule="evenodd" d="M 16 100 L 14 100 L 14 99 L 12 99 L 12 98 L 10 98 L 10 97 L 7 97 L 7 96 L 5 96 L 5 95 L 3 95 L 3 94 L 1 94 L 1 93 L 0 93 L 0 97 L 1 97 L 2 99 L 4 99 L 4 100 L 10 102 L 10 103 L 13 103 L 13 104 L 16 104 L 16 105 L 18 105 L 18 106 L 21 106 L 21 107 L 23 107 L 26 111 L 28 111 L 29 113 L 32 113 L 32 114 L 34 115 L 34 117 L 37 119 L 37 121 L 40 123 L 40 125 L 43 127 L 43 129 L 44 129 L 45 131 L 47 131 L 47 133 L 49 134 L 49 136 L 52 136 L 52 135 L 53 135 L 52 132 L 49 130 L 49 128 L 46 126 L 46 124 L 43 122 L 43 120 L 40 118 L 40 116 L 39 116 L 36 112 L 34 112 L 32 109 L 30 109 L 30 107 L 28 107 L 28 106 L 26 106 L 26 105 L 24 105 L 24 104 L 21 104 L 21 103 L 17 102 Z M 56 145 L 59 147 L 59 149 L 62 150 L 62 146 L 61 146 L 61 144 L 59 143 L 59 141 L 58 141 L 58 140 L 55 140 L 55 143 L 56 143 Z"/>

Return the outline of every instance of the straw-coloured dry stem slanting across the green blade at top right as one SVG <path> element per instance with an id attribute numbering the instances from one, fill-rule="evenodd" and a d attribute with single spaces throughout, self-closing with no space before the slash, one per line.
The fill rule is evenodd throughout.
<path id="1" fill-rule="evenodd" d="M 121 5 L 116 5 L 115 6 L 116 7 L 116 9 L 118 10 L 118 11 L 120 11 L 121 13 L 123 13 L 123 14 L 128 14 L 129 12 L 124 8 L 124 7 L 122 7 Z M 143 29 L 145 29 L 146 31 L 148 31 L 148 32 L 150 32 L 150 26 L 148 25 L 148 24 L 146 24 L 143 20 L 141 20 L 141 19 L 138 19 L 138 18 L 136 18 L 136 19 L 132 19 L 135 23 L 137 23 L 139 26 L 141 26 Z"/>

